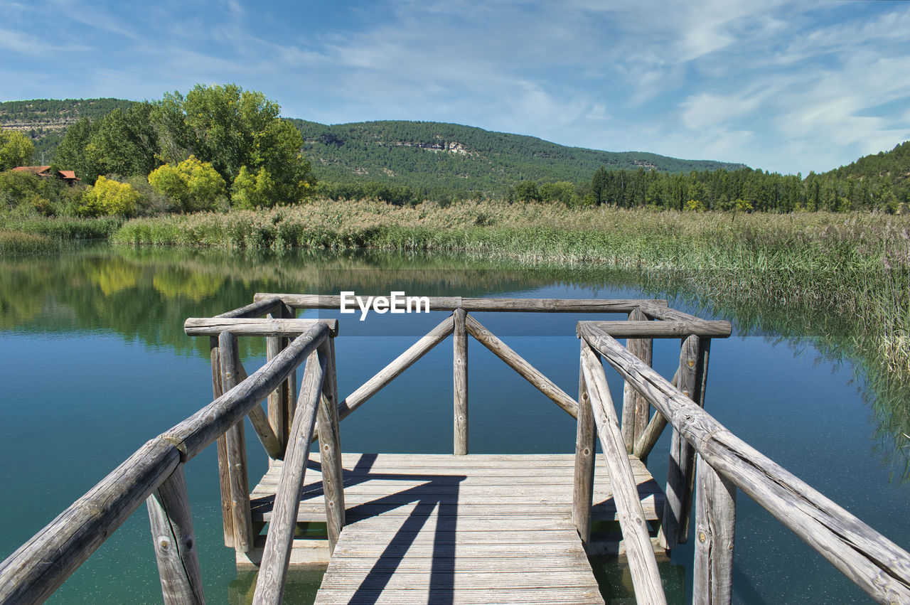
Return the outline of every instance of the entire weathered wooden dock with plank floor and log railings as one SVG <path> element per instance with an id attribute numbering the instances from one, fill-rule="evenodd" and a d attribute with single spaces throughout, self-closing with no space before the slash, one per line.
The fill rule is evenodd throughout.
<path id="1" fill-rule="evenodd" d="M 187 319 L 187 336 L 209 338 L 214 399 L 137 449 L 0 564 L 0 603 L 46 600 L 143 501 L 165 602 L 205 603 L 183 467 L 213 444 L 225 546 L 238 568 L 258 567 L 257 605 L 282 602 L 290 567 L 319 562 L 328 564 L 321 603 L 602 603 L 588 556 L 620 540 L 635 599 L 660 605 L 666 596 L 655 550 L 690 538 L 693 600 L 729 603 L 737 493 L 875 600 L 910 602 L 910 553 L 704 410 L 711 340 L 729 337 L 729 322 L 662 300 L 430 297 L 430 308 L 451 315 L 339 398 L 339 321 L 296 317 L 299 309 L 339 304 L 336 296 L 258 294 L 215 318 Z M 576 399 L 482 326 L 475 311 L 623 318 L 576 324 Z M 453 454 L 341 454 L 341 420 L 450 336 Z M 266 338 L 268 361 L 254 372 L 240 361 L 241 337 Z M 574 418 L 574 454 L 470 453 L 469 337 Z M 672 379 L 651 367 L 654 338 L 679 338 Z M 613 404 L 607 367 L 624 383 L 621 406 Z M 252 494 L 245 418 L 268 456 Z M 666 428 L 672 439 L 661 490 L 645 463 Z M 311 452 L 316 442 L 319 452 Z M 299 536 L 308 522 L 325 523 L 325 539 Z"/>

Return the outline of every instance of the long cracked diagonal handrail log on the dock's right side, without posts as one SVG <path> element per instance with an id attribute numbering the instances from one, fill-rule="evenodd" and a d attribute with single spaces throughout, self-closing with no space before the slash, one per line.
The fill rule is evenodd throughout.
<path id="1" fill-rule="evenodd" d="M 910 601 L 910 553 L 775 464 L 596 328 L 581 337 L 631 381 L 705 461 L 882 602 Z"/>

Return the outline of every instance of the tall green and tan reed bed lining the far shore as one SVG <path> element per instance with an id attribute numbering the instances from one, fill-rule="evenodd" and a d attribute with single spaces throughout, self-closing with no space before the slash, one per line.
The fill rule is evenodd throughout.
<path id="1" fill-rule="evenodd" d="M 910 376 L 910 217 L 679 213 L 541 204 L 322 200 L 268 211 L 128 221 L 117 243 L 444 250 L 529 264 L 680 272 L 711 296 L 801 306 L 863 324 L 864 348 Z M 868 337 L 868 338 L 866 338 Z"/>

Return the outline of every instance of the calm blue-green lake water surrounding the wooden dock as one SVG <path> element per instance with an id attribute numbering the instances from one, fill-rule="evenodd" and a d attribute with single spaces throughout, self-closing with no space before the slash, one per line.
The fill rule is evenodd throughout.
<path id="1" fill-rule="evenodd" d="M 87 247 L 63 257 L 0 259 L 0 267 L 0 559 L 147 439 L 211 399 L 207 338 L 194 341 L 183 334 L 187 317 L 239 307 L 258 291 L 653 297 L 661 296 L 663 287 L 596 267 L 531 271 L 457 257 L 367 254 L 272 257 Z M 814 338 L 810 318 L 798 314 L 780 318 L 719 305 L 712 311 L 685 297 L 672 304 L 703 317 L 733 319 L 733 338 L 712 344 L 706 408 L 786 469 L 910 548 L 910 488 L 900 480 L 905 449 L 883 439 L 894 433 L 895 418 L 906 415 L 906 389 L 883 385 L 851 360 L 850 328 L 842 338 L 831 330 Z M 337 340 L 341 395 L 442 317 L 432 314 L 404 327 L 388 321 L 365 326 L 343 316 Z M 577 392 L 574 322 L 580 317 L 477 317 L 561 388 Z M 405 335 L 390 336 L 395 330 Z M 258 368 L 264 343 L 252 338 L 241 343 L 248 370 Z M 675 340 L 655 341 L 654 366 L 665 376 L 672 376 L 678 346 Z M 472 339 L 469 356 L 471 451 L 573 451 L 575 426 L 568 415 Z M 621 401 L 619 378 L 610 370 L 608 379 L 614 399 Z M 421 421 L 415 426 L 418 410 Z M 257 440 L 248 442 L 255 482 L 265 459 Z M 342 442 L 346 451 L 449 452 L 450 341 L 346 419 Z M 669 432 L 649 463 L 661 483 L 668 447 Z M 233 552 L 223 546 L 216 469 L 214 448 L 186 469 L 207 598 L 243 602 L 252 578 L 238 578 Z M 737 504 L 734 600 L 867 600 L 751 499 L 741 493 Z M 692 548 L 685 546 L 662 564 L 671 598 L 691 596 L 691 561 Z M 631 586 L 628 571 L 614 563 L 599 563 L 597 572 L 608 595 L 621 598 L 623 587 Z M 294 580 L 288 601 L 311 600 L 319 574 Z M 52 599 L 126 600 L 160 601 L 144 507 Z"/>

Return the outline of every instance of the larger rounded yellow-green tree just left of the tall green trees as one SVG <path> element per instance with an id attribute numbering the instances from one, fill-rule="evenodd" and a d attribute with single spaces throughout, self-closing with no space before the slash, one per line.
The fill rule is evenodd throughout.
<path id="1" fill-rule="evenodd" d="M 226 184 L 208 162 L 189 156 L 177 165 L 157 167 L 148 175 L 148 184 L 171 198 L 182 211 L 210 210 L 226 193 Z"/>

